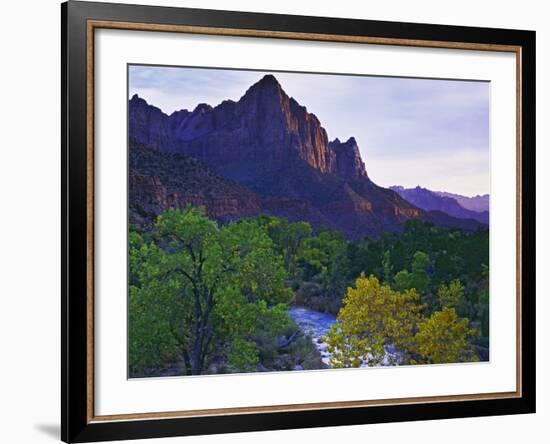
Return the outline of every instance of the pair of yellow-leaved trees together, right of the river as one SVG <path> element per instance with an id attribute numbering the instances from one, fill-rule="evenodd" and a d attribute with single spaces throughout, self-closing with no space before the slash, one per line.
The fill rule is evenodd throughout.
<path id="1" fill-rule="evenodd" d="M 470 344 L 476 331 L 468 319 L 459 319 L 449 307 L 425 318 L 423 308 L 414 288 L 400 292 L 380 284 L 375 276 L 361 275 L 355 287 L 348 288 L 337 323 L 327 335 L 330 364 L 342 368 L 384 360 L 429 364 L 477 360 Z M 401 356 L 390 353 L 390 347 Z"/>

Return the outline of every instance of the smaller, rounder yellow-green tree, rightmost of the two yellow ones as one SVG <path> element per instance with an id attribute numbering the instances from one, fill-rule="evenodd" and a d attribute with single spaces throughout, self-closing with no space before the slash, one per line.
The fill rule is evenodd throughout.
<path id="1" fill-rule="evenodd" d="M 475 335 L 468 319 L 459 319 L 454 308 L 445 307 L 418 323 L 415 348 L 429 364 L 477 361 L 470 345 Z"/>

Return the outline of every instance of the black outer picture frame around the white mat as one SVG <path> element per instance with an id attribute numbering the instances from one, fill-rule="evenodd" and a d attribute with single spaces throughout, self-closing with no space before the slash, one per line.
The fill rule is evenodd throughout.
<path id="1" fill-rule="evenodd" d="M 88 343 L 87 23 L 187 25 L 521 48 L 521 396 L 354 408 L 94 421 Z M 535 32 L 69 1 L 61 5 L 61 438 L 90 442 L 535 412 Z M 93 325 L 93 322 L 92 322 Z"/>

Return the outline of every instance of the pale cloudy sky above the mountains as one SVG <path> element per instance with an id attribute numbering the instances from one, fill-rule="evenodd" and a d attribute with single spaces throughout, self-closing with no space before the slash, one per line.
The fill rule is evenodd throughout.
<path id="1" fill-rule="evenodd" d="M 378 185 L 489 193 L 489 82 L 132 65 L 128 93 L 171 114 L 239 100 L 265 74 L 330 140 L 355 137 Z"/>

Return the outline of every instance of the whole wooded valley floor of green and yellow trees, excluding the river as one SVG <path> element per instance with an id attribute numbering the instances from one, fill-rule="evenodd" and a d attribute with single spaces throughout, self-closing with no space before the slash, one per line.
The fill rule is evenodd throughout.
<path id="1" fill-rule="evenodd" d="M 129 232 L 129 377 L 489 358 L 489 231 L 410 219 L 349 241 L 261 215 L 168 209 Z M 291 307 L 336 317 L 328 361 Z"/>

